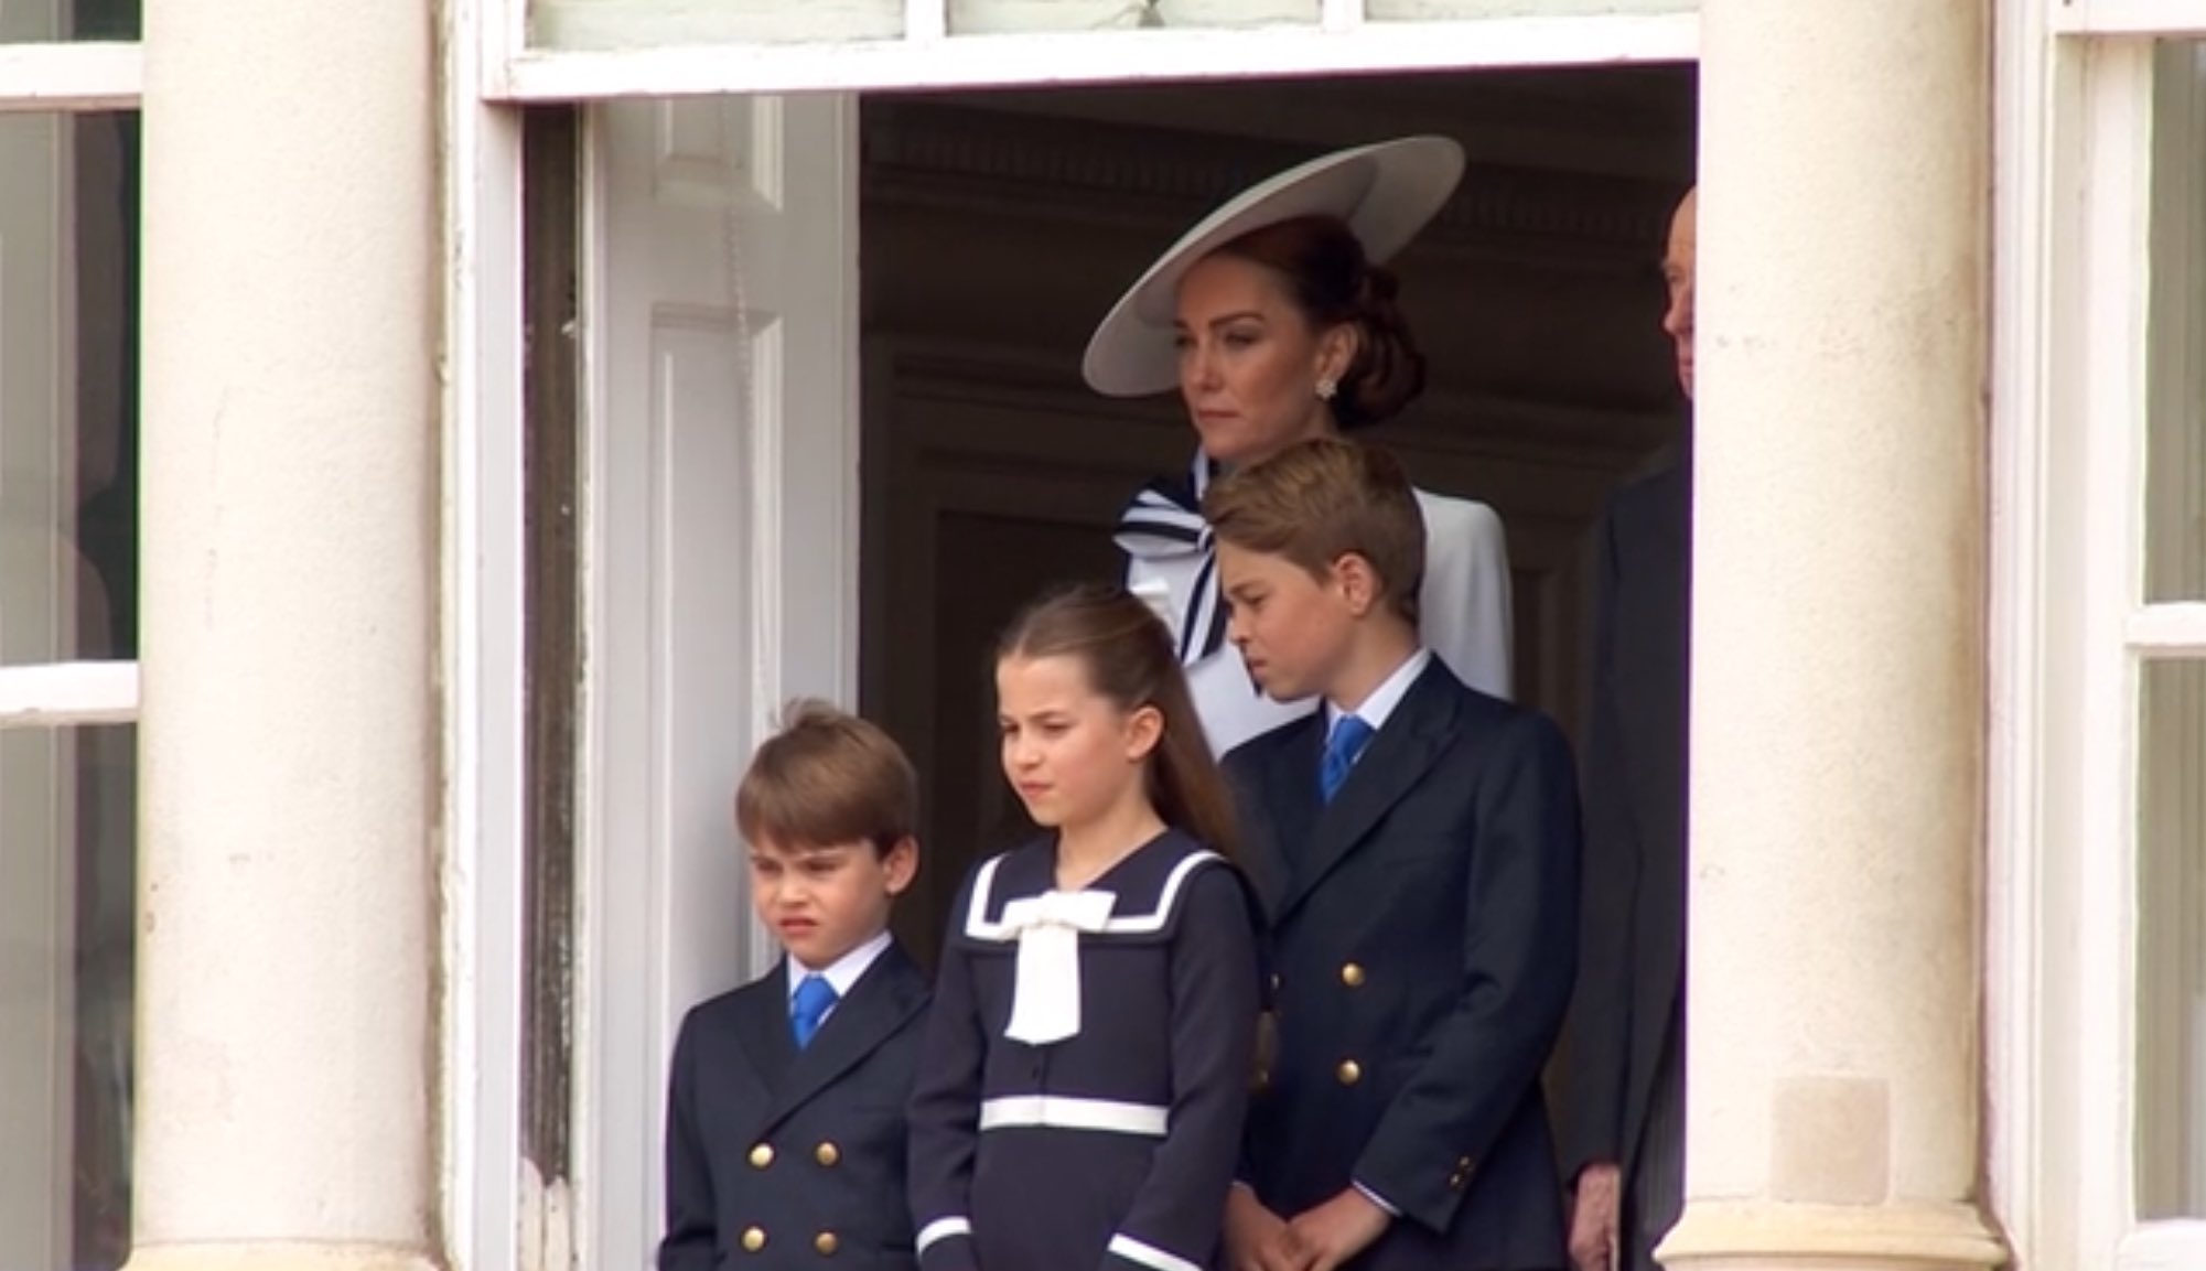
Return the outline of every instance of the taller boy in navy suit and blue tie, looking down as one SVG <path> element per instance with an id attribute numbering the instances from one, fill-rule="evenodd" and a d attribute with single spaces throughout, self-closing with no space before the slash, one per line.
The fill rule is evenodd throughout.
<path id="1" fill-rule="evenodd" d="M 1251 675 L 1324 697 L 1224 761 L 1275 966 L 1229 1267 L 1560 1271 L 1540 1068 L 1577 951 L 1568 746 L 1421 644 L 1425 527 L 1385 452 L 1304 441 L 1204 516 Z"/>

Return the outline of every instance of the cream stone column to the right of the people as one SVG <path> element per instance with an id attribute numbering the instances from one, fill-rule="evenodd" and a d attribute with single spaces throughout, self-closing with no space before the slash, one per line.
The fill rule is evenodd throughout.
<path id="1" fill-rule="evenodd" d="M 1981 0 L 1703 0 L 1672 1269 L 2001 1260 L 1977 1189 Z"/>

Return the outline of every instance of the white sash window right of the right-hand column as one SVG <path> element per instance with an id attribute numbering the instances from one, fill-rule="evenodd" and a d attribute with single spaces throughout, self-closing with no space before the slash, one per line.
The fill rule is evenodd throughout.
<path id="1" fill-rule="evenodd" d="M 2001 578 L 2043 569 L 1994 688 L 1994 1194 L 2023 1267 L 2206 1267 L 2206 2 L 2043 13 L 2003 62 L 2043 128 L 2003 357 L 2047 380 L 1994 499 L 2036 523 Z"/>

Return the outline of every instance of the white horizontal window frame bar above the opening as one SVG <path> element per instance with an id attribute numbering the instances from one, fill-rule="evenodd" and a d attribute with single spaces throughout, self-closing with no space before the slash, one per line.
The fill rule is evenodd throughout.
<path id="1" fill-rule="evenodd" d="M 949 35 L 949 0 L 907 0 L 898 40 L 554 51 L 527 44 L 529 0 L 479 2 L 499 102 L 1690 62 L 1701 46 L 1696 11 L 1366 22 L 1363 0 L 1321 0 L 1313 26 Z"/>

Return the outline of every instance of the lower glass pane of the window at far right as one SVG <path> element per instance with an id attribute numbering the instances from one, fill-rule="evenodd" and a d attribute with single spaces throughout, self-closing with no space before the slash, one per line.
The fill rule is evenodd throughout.
<path id="1" fill-rule="evenodd" d="M 2206 1218 L 2206 662 L 2146 662 L 2138 746 L 2138 1216 Z"/>

